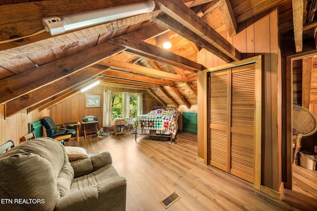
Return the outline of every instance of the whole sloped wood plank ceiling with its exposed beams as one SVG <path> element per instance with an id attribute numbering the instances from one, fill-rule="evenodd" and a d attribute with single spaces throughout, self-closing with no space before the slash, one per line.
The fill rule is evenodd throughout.
<path id="1" fill-rule="evenodd" d="M 142 1 L 4 0 L 0 42 L 40 32 L 44 17 Z M 145 89 L 164 105 L 190 108 L 197 104 L 197 72 L 206 68 L 197 62 L 197 53 L 205 48 L 225 62 L 240 60 L 241 52 L 219 33 L 227 30 L 235 36 L 240 23 L 272 6 L 279 9 L 280 33 L 294 31 L 297 52 L 303 48 L 303 30 L 305 38 L 315 38 L 316 0 L 154 1 L 150 13 L 62 35 L 42 32 L 0 43 L 0 104 L 6 105 L 5 115 L 48 108 L 94 80 Z M 166 39 L 172 42 L 168 50 L 162 47 Z"/>

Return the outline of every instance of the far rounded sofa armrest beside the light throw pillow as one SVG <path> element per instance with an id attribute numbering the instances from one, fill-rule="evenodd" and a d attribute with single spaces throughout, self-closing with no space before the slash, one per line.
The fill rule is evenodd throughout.
<path id="1" fill-rule="evenodd" d="M 112 164 L 112 159 L 109 152 L 100 152 L 94 153 L 88 158 L 71 161 L 70 164 L 74 169 L 74 177 L 76 178 Z"/>

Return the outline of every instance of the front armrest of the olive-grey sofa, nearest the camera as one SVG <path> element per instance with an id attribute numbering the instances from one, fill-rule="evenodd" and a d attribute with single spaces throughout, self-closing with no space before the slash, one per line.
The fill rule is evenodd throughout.
<path id="1" fill-rule="evenodd" d="M 124 211 L 126 207 L 126 179 L 115 177 L 60 198 L 56 211 Z"/>

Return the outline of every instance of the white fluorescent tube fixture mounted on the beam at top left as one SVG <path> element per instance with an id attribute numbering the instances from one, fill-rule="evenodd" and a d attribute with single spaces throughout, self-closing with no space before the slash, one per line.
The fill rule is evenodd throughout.
<path id="1" fill-rule="evenodd" d="M 87 12 L 43 18 L 42 22 L 46 31 L 53 36 L 75 29 L 152 12 L 154 8 L 154 1 L 145 1 Z"/>

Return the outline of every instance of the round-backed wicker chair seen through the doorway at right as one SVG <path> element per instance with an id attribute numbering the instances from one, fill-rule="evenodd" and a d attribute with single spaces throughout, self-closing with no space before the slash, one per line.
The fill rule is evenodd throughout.
<path id="1" fill-rule="evenodd" d="M 309 136 L 317 130 L 317 118 L 307 108 L 293 105 L 293 164 L 296 164 L 297 153 L 301 149 L 303 136 Z"/>

